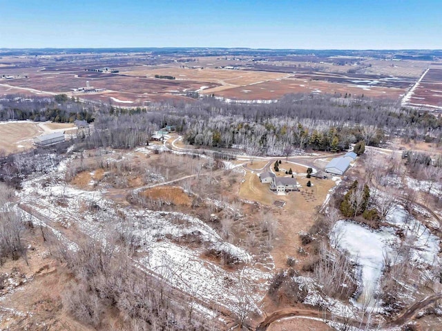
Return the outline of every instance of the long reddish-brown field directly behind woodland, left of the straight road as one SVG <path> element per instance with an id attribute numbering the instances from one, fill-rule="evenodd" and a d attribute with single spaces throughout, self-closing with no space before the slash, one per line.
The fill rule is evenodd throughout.
<path id="1" fill-rule="evenodd" d="M 230 88 L 229 90 L 220 91 L 216 95 L 236 100 L 276 100 L 288 93 L 337 93 L 342 95 L 351 93 L 352 95 L 398 100 L 405 94 L 405 91 L 405 88 L 337 84 L 309 79 L 278 79 L 271 82 Z"/>

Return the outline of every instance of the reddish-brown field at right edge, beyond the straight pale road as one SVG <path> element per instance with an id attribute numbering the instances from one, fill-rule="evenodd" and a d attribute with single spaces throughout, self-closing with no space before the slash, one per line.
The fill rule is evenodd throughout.
<path id="1" fill-rule="evenodd" d="M 414 89 L 411 106 L 428 106 L 442 110 L 442 69 L 429 69 Z"/>

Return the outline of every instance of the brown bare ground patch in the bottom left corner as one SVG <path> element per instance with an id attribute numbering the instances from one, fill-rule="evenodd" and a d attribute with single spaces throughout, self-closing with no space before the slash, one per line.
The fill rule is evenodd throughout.
<path id="1" fill-rule="evenodd" d="M 0 267 L 0 272 L 13 272 L 26 275 L 27 281 L 2 296 L 0 305 L 1 330 L 66 330 L 90 331 L 81 323 L 68 316 L 61 304 L 61 295 L 66 283 L 71 280 L 66 267 L 59 265 L 50 254 L 48 245 L 39 235 L 26 234 L 28 263 L 23 258 L 8 260 Z M 31 231 L 31 232 L 32 232 Z M 52 249 L 55 249 L 54 247 Z"/>

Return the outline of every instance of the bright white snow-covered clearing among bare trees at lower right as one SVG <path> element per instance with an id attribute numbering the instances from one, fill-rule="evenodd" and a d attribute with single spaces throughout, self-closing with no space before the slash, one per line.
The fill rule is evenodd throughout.
<path id="1" fill-rule="evenodd" d="M 339 220 L 330 234 L 332 245 L 348 252 L 358 265 L 363 294 L 361 299 L 367 298 L 370 305 L 380 290 L 379 281 L 385 263 L 397 263 L 403 258 L 410 258 L 413 265 L 424 271 L 428 266 L 440 264 L 439 238 L 402 206 L 396 205 L 387 214 L 385 221 L 394 227 L 381 227 L 375 231 L 349 220 Z M 402 239 L 396 234 L 396 228 L 403 230 Z M 400 245 L 410 247 L 410 256 L 399 256 Z"/>

